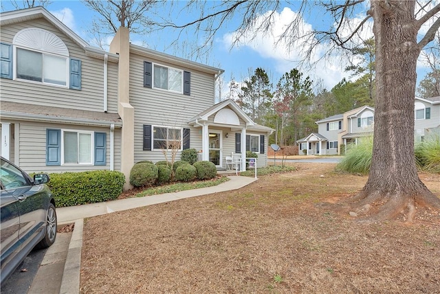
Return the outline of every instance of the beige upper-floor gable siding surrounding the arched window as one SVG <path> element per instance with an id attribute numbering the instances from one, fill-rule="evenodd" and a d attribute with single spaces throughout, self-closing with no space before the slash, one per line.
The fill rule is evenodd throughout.
<path id="1" fill-rule="evenodd" d="M 37 27 L 52 32 L 65 43 L 69 49 L 70 58 L 81 60 L 82 89 L 78 91 L 38 82 L 1 79 L 1 99 L 3 101 L 58 106 L 87 111 L 104 111 L 104 60 L 85 56 L 85 49 L 83 47 L 78 46 L 44 19 L 1 27 L 1 41 L 12 44 L 14 35 L 28 27 Z M 109 62 L 108 108 L 109 111 L 113 112 L 118 108 L 117 69 L 117 64 Z M 113 73 L 113 71 L 116 72 Z"/>

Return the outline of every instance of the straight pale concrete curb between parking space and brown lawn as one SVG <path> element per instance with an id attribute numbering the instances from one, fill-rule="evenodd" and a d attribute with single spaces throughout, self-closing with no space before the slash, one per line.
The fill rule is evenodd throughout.
<path id="1" fill-rule="evenodd" d="M 61 294 L 78 294 L 80 291 L 81 249 L 83 248 L 84 219 L 75 220 L 64 265 Z"/>

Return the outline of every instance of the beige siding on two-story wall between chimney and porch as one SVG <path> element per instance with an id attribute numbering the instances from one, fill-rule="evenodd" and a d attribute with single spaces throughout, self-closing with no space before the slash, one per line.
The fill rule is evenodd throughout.
<path id="1" fill-rule="evenodd" d="M 190 71 L 191 95 L 173 93 L 163 89 L 144 87 L 144 61 L 167 67 Z M 201 149 L 200 128 L 189 126 L 192 117 L 212 106 L 214 101 L 214 75 L 175 67 L 159 60 L 131 54 L 130 58 L 130 104 L 135 108 L 135 162 L 164 160 L 162 150 L 143 150 L 143 125 L 190 128 L 190 148 Z M 170 154 L 170 152 L 168 152 Z M 168 155 L 169 156 L 169 155 Z M 180 152 L 177 160 L 180 159 Z"/>

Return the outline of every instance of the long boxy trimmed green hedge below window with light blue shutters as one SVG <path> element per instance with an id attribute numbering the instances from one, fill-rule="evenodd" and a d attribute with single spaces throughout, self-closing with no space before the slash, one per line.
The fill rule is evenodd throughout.
<path id="1" fill-rule="evenodd" d="M 65 207 L 117 199 L 124 183 L 122 172 L 94 170 L 50 174 L 47 186 L 54 194 L 56 207 Z"/>

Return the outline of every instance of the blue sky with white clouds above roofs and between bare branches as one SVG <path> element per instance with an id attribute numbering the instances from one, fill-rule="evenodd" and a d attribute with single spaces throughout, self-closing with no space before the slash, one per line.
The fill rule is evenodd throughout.
<path id="1" fill-rule="evenodd" d="M 17 1 L 19 2 L 21 0 Z M 298 3 L 300 3 L 300 1 L 294 2 L 294 6 Z M 181 1 L 179 4 L 184 5 L 185 2 Z M 2 0 L 2 6 L 3 10 L 14 9 L 8 4 L 8 1 L 5 0 Z M 296 15 L 295 11 L 297 8 L 294 6 L 284 5 L 276 12 L 273 25 L 274 34 L 280 34 L 283 30 L 283 26 L 289 23 Z M 93 44 L 91 34 L 89 34 L 87 30 L 91 25 L 91 19 L 98 17 L 96 12 L 87 8 L 80 1 L 52 0 L 52 3 L 46 8 L 85 41 Z M 353 19 L 353 23 L 358 23 L 364 18 L 366 9 L 367 7 L 364 7 L 363 11 L 359 11 L 358 16 Z M 159 11 L 159 14 L 160 13 L 162 13 L 162 11 Z M 179 15 L 177 18 L 179 23 L 185 23 L 186 20 L 195 19 L 197 17 L 194 13 Z M 318 25 L 328 23 L 328 21 L 323 18 L 325 18 L 325 16 L 323 16 L 322 13 L 312 10 L 304 16 L 301 25 L 304 30 L 310 30 L 312 27 L 316 28 Z M 263 34 L 263 32 L 256 32 L 256 34 L 252 34 L 252 36 L 248 38 L 242 38 L 241 43 L 231 49 L 232 36 L 240 22 L 241 18 L 237 15 L 232 21 L 228 22 L 227 26 L 222 27 L 214 38 L 214 43 L 209 54 L 204 56 L 203 60 L 196 60 L 225 70 L 223 74 L 223 93 L 228 92 L 228 82 L 230 82 L 231 78 L 234 78 L 236 81 L 244 80 L 249 76 L 249 71 L 254 71 L 256 67 L 265 69 L 274 84 L 278 82 L 279 78 L 281 78 L 285 72 L 298 67 L 296 60 L 300 60 L 299 56 L 303 49 L 294 45 L 289 50 L 283 43 L 279 43 L 275 46 L 274 42 L 276 38 L 271 35 Z M 168 30 L 165 34 L 163 31 L 155 32 L 150 36 L 134 36 L 132 34 L 131 42 L 167 54 L 188 58 L 188 55 L 184 54 L 184 52 L 186 52 L 185 49 L 170 47 L 171 38 L 175 36 L 177 36 L 177 32 L 171 30 Z M 362 34 L 363 38 L 369 36 L 372 36 L 371 30 Z M 182 34 L 179 41 L 186 41 L 188 44 L 194 45 L 197 40 L 193 40 L 193 38 L 194 34 L 189 32 L 188 34 Z M 325 49 L 325 47 L 318 47 L 312 59 L 318 60 Z M 333 56 L 331 60 L 320 60 L 316 66 L 311 69 L 303 67 L 303 69 L 300 70 L 303 71 L 305 76 L 310 76 L 312 80 L 321 80 L 321 87 L 330 90 L 335 84 L 340 82 L 342 78 L 350 77 L 350 73 L 344 72 L 344 67 L 347 65 L 344 58 Z M 425 74 L 426 69 L 419 63 L 418 80 L 423 78 Z M 316 86 L 315 89 L 318 89 L 318 87 Z"/>

